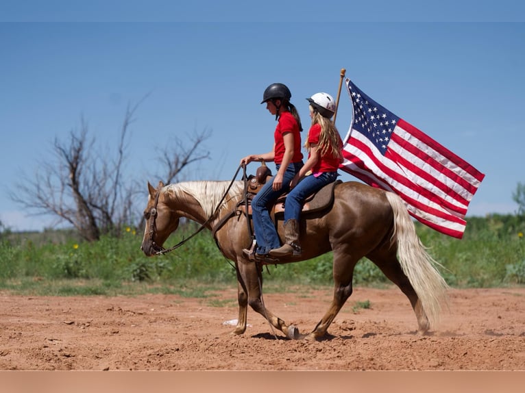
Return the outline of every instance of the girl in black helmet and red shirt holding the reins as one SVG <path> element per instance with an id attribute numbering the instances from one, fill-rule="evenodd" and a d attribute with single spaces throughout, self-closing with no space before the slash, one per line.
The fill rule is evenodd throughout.
<path id="1" fill-rule="evenodd" d="M 290 189 L 290 182 L 303 166 L 301 153 L 301 120 L 295 106 L 290 103 L 291 92 L 284 84 L 271 84 L 262 94 L 269 112 L 278 120 L 273 133 L 273 148 L 268 153 L 247 155 L 241 164 L 252 161 L 275 162 L 277 174 L 267 181 L 252 201 L 252 219 L 257 240 L 255 255 L 243 250 L 250 257 L 264 257 L 280 246 L 276 227 L 270 218 L 268 207 Z"/>

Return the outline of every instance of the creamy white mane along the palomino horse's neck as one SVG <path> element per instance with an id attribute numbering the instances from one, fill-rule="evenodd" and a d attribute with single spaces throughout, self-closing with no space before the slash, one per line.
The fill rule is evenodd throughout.
<path id="1" fill-rule="evenodd" d="M 173 196 L 178 196 L 182 192 L 191 195 L 199 202 L 206 216 L 209 217 L 217 208 L 226 190 L 228 190 L 228 186 L 230 186 L 230 181 L 182 181 L 168 184 L 164 187 L 164 192 Z M 234 181 L 219 210 L 232 198 L 240 197 L 242 192 L 243 182 Z"/>

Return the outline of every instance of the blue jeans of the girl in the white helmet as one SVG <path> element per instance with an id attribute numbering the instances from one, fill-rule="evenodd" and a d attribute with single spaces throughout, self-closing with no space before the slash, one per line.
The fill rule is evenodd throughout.
<path id="1" fill-rule="evenodd" d="M 337 172 L 321 173 L 318 177 L 309 175 L 297 183 L 290 193 L 286 195 L 284 203 L 284 223 L 290 219 L 299 221 L 304 200 L 323 186 L 337 179 Z"/>

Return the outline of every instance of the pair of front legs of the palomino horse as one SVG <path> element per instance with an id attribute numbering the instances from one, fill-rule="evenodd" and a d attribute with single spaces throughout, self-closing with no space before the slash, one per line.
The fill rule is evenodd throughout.
<path id="1" fill-rule="evenodd" d="M 243 293 L 247 294 L 247 304 L 258 312 L 260 315 L 265 317 L 268 320 L 271 327 L 278 329 L 287 338 L 297 340 L 300 338 L 299 329 L 293 325 L 286 325 L 284 320 L 273 315 L 273 313 L 265 307 L 264 302 L 262 301 L 262 276 L 260 275 L 261 266 L 254 262 L 240 262 L 237 269 L 237 275 L 239 279 L 239 288 L 243 288 Z M 239 289 L 240 291 L 240 289 Z M 239 322 L 237 324 L 238 329 L 242 328 L 241 318 L 244 318 L 244 329 L 246 328 L 246 312 L 244 311 L 243 316 L 241 317 L 242 305 L 241 305 L 241 293 L 239 292 Z M 243 297 L 243 299 L 245 299 Z M 234 333 L 235 333 L 234 331 Z M 243 332 L 241 332 L 243 333 Z M 240 334 L 240 333 L 239 333 Z"/>

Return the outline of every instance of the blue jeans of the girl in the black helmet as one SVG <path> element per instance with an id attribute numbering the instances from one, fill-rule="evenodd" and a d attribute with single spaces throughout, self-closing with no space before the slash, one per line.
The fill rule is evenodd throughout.
<path id="1" fill-rule="evenodd" d="M 268 207 L 280 197 L 284 192 L 290 190 L 290 181 L 303 166 L 303 162 L 289 164 L 282 179 L 282 188 L 274 191 L 272 189 L 273 179 L 269 179 L 262 186 L 252 201 L 252 220 L 254 222 L 254 232 L 257 239 L 256 253 L 266 255 L 270 250 L 278 249 L 281 244 L 277 234 L 276 225 L 271 220 Z M 279 170 L 280 165 L 276 165 Z"/>

